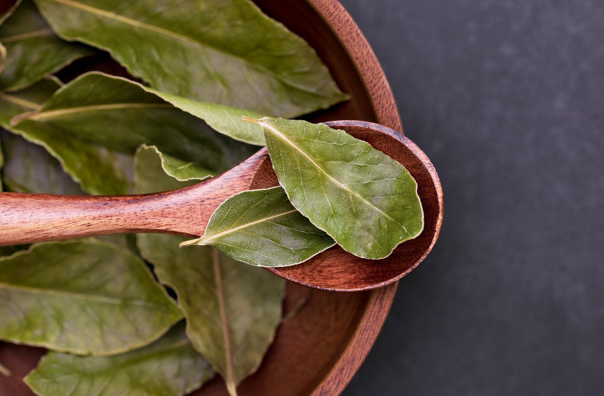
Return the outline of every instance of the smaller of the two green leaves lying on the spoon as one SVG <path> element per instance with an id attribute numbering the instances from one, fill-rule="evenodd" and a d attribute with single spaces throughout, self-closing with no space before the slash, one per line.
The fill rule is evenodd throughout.
<path id="1" fill-rule="evenodd" d="M 211 245 L 242 262 L 295 265 L 335 245 L 301 215 L 282 187 L 237 193 L 216 208 L 202 237 L 183 242 Z"/>

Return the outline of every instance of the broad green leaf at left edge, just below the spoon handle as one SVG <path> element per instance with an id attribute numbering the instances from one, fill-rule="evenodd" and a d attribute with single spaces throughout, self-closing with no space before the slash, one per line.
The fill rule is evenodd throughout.
<path id="1" fill-rule="evenodd" d="M 76 354 L 140 348 L 182 318 L 137 256 L 95 240 L 1 257 L 0 300 L 1 339 Z"/>

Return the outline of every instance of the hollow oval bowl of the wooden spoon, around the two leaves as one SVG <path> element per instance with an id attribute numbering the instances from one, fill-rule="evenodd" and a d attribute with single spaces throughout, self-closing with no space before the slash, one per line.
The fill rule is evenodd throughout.
<path id="1" fill-rule="evenodd" d="M 381 260 L 362 259 L 338 245 L 323 251 L 304 263 L 270 268 L 282 278 L 312 288 L 338 292 L 355 292 L 385 286 L 399 280 L 432 250 L 443 222 L 443 190 L 439 175 L 424 152 L 403 134 L 365 121 L 330 121 L 324 124 L 346 131 L 365 140 L 374 148 L 400 162 L 417 181 L 417 193 L 422 201 L 424 228 L 415 239 L 407 240 Z M 277 186 L 277 175 L 271 160 L 260 165 L 250 188 Z M 272 179 L 268 178 L 272 175 Z"/>

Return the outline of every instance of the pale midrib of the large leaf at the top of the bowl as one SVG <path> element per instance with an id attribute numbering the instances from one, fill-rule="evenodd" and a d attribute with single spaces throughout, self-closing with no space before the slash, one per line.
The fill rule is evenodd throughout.
<path id="1" fill-rule="evenodd" d="M 170 31 L 170 30 L 167 30 L 167 29 L 155 26 L 155 25 L 146 24 L 145 22 L 140 22 L 136 19 L 132 19 L 132 18 L 129 18 L 126 16 L 121 16 L 119 14 L 112 13 L 111 11 L 102 10 L 101 8 L 92 7 L 90 5 L 82 4 L 77 1 L 72 1 L 72 0 L 49 0 L 49 1 L 62 3 L 69 7 L 80 8 L 80 10 L 88 11 L 90 13 L 97 14 L 100 16 L 105 16 L 110 19 L 115 19 L 120 22 L 123 22 L 124 24 L 132 25 L 132 26 L 143 28 L 143 29 L 150 30 L 150 31 L 154 31 L 155 33 L 164 34 L 165 36 L 173 37 L 175 39 L 182 40 L 185 42 L 194 43 L 194 44 L 202 46 L 202 47 L 211 48 L 214 51 L 220 52 L 221 54 L 224 54 L 228 57 L 241 60 L 241 61 L 245 62 L 246 64 L 251 65 L 255 69 L 265 72 L 266 74 L 272 75 L 277 80 L 281 81 L 282 83 L 284 83 L 292 88 L 301 90 L 303 92 L 312 93 L 313 95 L 317 95 L 317 96 L 330 97 L 330 95 L 326 95 L 326 94 L 317 92 L 316 90 L 313 90 L 313 89 L 310 89 L 310 88 L 307 88 L 304 86 L 300 86 L 299 84 L 295 84 L 292 81 L 287 80 L 280 74 L 277 74 L 274 71 L 271 71 L 270 69 L 267 69 L 264 66 L 261 66 L 260 64 L 252 63 L 251 61 L 246 60 L 245 58 L 238 57 L 237 55 L 226 52 L 223 49 L 216 48 L 215 46 L 208 45 L 207 43 L 202 43 L 199 40 L 191 39 L 191 37 L 184 36 L 184 34 L 179 34 L 179 33 L 176 33 L 176 32 L 173 32 L 173 31 Z"/>

